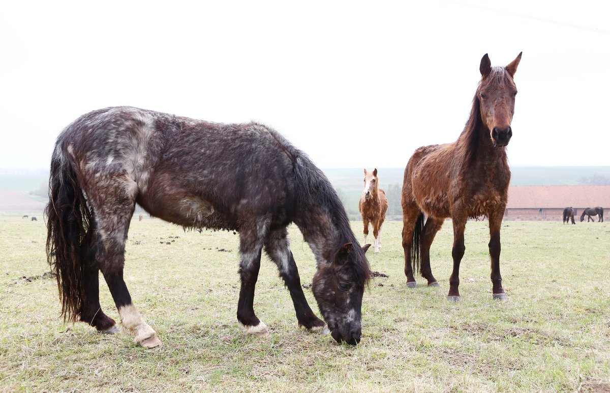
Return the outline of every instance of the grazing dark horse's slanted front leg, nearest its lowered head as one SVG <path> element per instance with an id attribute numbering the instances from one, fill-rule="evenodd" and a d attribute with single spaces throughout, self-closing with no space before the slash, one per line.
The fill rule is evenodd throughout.
<path id="1" fill-rule="evenodd" d="M 307 299 L 305 299 L 303 294 L 301 278 L 299 277 L 295 258 L 290 251 L 286 228 L 281 228 L 270 233 L 265 242 L 265 252 L 278 265 L 279 275 L 290 291 L 290 297 L 295 306 L 296 319 L 299 326 L 309 330 L 323 329 L 325 323 L 315 316 L 314 311 L 309 307 Z"/>

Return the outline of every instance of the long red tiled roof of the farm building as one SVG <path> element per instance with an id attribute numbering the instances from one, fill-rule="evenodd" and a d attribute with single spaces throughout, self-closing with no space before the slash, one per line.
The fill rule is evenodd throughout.
<path id="1" fill-rule="evenodd" d="M 511 186 L 506 208 L 610 208 L 610 186 Z"/>

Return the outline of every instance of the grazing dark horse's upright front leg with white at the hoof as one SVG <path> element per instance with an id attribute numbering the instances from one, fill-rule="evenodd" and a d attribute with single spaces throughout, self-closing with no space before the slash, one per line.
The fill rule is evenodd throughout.
<path id="1" fill-rule="evenodd" d="M 246 333 L 257 336 L 268 336 L 269 330 L 264 322 L 254 314 L 254 287 L 259 276 L 260 253 L 262 243 L 256 230 L 240 232 L 240 265 L 239 275 L 242 286 L 237 302 L 237 320 L 243 325 Z"/>

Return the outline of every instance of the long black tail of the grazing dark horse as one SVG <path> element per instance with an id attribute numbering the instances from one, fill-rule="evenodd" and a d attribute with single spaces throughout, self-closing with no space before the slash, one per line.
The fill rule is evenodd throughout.
<path id="1" fill-rule="evenodd" d="M 84 300 L 84 253 L 81 243 L 91 225 L 91 210 L 79 185 L 62 138 L 51 158 L 49 204 L 46 206 L 47 261 L 57 275 L 64 321 L 76 322 Z"/>

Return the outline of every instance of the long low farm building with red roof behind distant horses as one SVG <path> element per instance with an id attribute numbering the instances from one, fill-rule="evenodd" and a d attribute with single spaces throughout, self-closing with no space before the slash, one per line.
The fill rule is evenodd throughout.
<path id="1" fill-rule="evenodd" d="M 596 206 L 610 215 L 610 186 L 511 186 L 504 221 L 562 221 L 564 208 L 573 207 L 578 222 L 584 208 Z"/>

